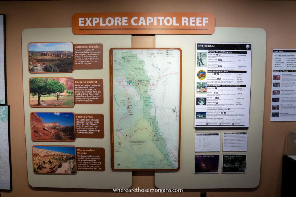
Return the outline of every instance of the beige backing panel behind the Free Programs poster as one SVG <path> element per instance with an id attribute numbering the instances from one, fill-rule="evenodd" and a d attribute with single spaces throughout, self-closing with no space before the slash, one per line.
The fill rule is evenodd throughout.
<path id="1" fill-rule="evenodd" d="M 250 126 L 247 130 L 220 132 L 219 173 L 194 174 L 194 72 L 195 42 L 252 43 Z M 181 161 L 178 172 L 155 172 L 157 188 L 255 188 L 260 180 L 265 84 L 266 32 L 261 28 L 216 27 L 213 35 L 156 35 L 155 47 L 182 49 Z M 246 152 L 222 152 L 223 131 L 248 132 Z M 204 131 L 198 131 L 204 132 Z M 203 152 L 203 154 L 213 154 Z M 246 173 L 222 174 L 223 154 L 247 154 Z M 180 181 L 186 180 L 186 181 Z"/>

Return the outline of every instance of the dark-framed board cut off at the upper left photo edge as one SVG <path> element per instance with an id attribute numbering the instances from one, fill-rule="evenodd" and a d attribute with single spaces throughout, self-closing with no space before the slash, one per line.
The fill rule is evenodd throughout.
<path id="1" fill-rule="evenodd" d="M 5 76 L 5 15 L 0 14 L 0 104 L 6 102 Z"/>

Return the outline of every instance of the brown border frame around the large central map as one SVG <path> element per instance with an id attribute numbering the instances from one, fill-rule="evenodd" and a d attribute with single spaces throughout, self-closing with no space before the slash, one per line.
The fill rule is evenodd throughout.
<path id="1" fill-rule="evenodd" d="M 114 168 L 114 128 L 113 128 L 113 50 L 118 49 L 144 49 L 144 50 L 179 50 L 180 53 L 180 80 L 179 80 L 179 135 L 178 135 L 178 167 L 176 169 L 115 169 Z M 110 48 L 109 50 L 109 82 L 110 82 L 110 139 L 111 139 L 111 168 L 114 171 L 178 171 L 180 169 L 180 150 L 181 150 L 181 87 L 182 87 L 182 50 L 181 48 L 146 48 L 146 47 L 131 47 L 131 48 Z"/>

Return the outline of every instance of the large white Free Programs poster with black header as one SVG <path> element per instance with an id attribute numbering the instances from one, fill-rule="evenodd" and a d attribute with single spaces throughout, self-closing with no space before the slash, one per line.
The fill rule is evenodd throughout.
<path id="1" fill-rule="evenodd" d="M 194 127 L 249 127 L 252 43 L 196 43 Z"/>

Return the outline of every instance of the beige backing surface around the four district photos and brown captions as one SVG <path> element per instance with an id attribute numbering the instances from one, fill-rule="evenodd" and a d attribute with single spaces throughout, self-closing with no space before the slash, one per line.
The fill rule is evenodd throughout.
<path id="1" fill-rule="evenodd" d="M 73 44 L 102 43 L 103 68 L 75 69 L 72 73 L 29 73 L 28 71 L 28 43 L 31 42 L 72 42 Z M 22 32 L 22 71 L 25 110 L 25 134 L 28 166 L 28 182 L 32 187 L 44 188 L 129 188 L 132 184 L 131 172 L 113 172 L 110 158 L 110 105 L 109 105 L 109 49 L 112 47 L 131 47 L 131 35 L 74 35 L 71 28 L 42 28 L 25 29 Z M 31 108 L 29 105 L 30 77 L 73 77 L 74 79 L 102 79 L 104 102 L 100 104 L 75 104 L 73 108 Z M 104 138 L 85 139 L 76 138 L 74 142 L 34 142 L 31 140 L 30 113 L 31 112 L 73 112 L 75 114 L 103 114 Z M 105 170 L 78 171 L 75 175 L 35 174 L 32 166 L 32 146 L 75 146 L 76 148 L 100 149 L 105 158 Z"/>

